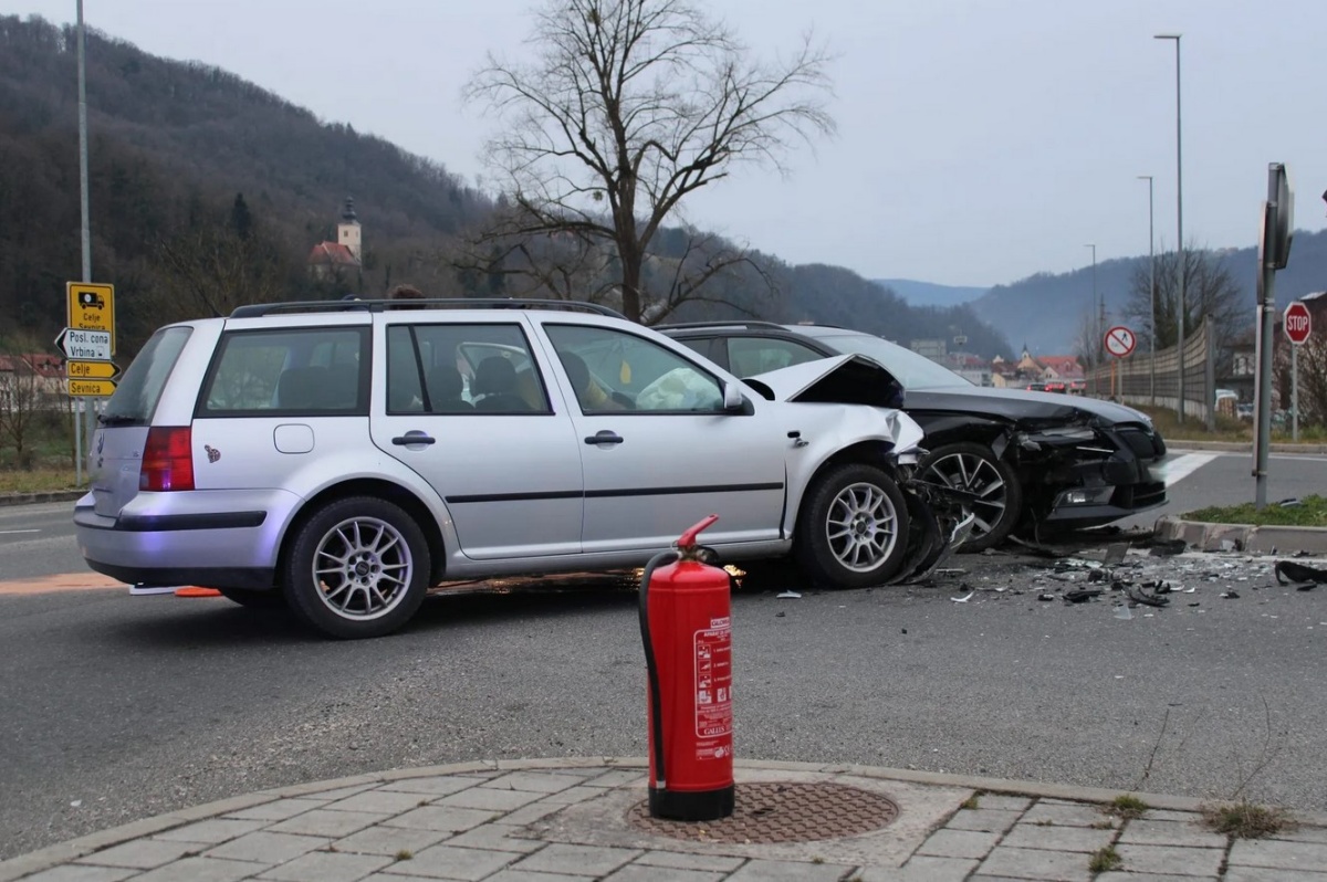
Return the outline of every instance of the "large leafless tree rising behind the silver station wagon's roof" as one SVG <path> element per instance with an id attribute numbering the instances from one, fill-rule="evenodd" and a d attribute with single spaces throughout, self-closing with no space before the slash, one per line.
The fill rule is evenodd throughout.
<path id="1" fill-rule="evenodd" d="M 660 275 L 662 294 L 645 284 L 650 243 L 687 194 L 736 162 L 784 171 L 795 141 L 835 130 L 828 56 L 809 38 L 790 58 L 754 62 L 687 0 L 548 0 L 531 44 L 537 61 L 490 56 L 466 86 L 467 101 L 506 123 L 486 155 L 512 211 L 487 237 L 569 232 L 614 249 L 633 321 L 661 312 L 656 302 L 671 312 L 746 260 L 735 249 L 682 260 L 683 273 Z"/>

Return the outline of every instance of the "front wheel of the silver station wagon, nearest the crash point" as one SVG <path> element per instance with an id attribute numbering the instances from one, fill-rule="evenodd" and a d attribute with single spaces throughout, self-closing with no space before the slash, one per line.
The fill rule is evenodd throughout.
<path id="1" fill-rule="evenodd" d="M 813 584 L 881 585 L 904 565 L 909 527 L 908 504 L 889 472 L 863 463 L 837 466 L 803 500 L 795 556 Z"/>

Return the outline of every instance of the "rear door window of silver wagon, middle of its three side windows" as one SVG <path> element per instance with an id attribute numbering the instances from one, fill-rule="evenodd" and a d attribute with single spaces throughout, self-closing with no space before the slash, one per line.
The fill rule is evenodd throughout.
<path id="1" fill-rule="evenodd" d="M 389 414 L 548 414 L 520 325 L 387 329 Z"/>

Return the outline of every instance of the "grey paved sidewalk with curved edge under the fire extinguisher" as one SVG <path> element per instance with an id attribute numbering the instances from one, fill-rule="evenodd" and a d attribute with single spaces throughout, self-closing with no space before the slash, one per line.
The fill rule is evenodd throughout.
<path id="1" fill-rule="evenodd" d="M 1119 796 L 1113 790 L 796 763 L 738 763 L 736 779 L 738 816 L 743 788 L 775 794 L 756 817 L 747 813 L 746 828 L 733 826 L 736 816 L 714 824 L 648 818 L 641 760 L 364 775 L 50 846 L 0 863 L 0 882 L 1327 882 L 1324 816 L 1299 816 L 1295 829 L 1274 838 L 1230 840 L 1202 825 L 1197 801 L 1180 797 L 1136 794 L 1148 810 L 1120 820 L 1103 810 Z M 799 816 L 811 810 L 803 794 L 817 789 L 893 810 L 882 826 L 837 838 L 787 841 L 786 824 L 764 826 L 783 814 L 808 836 L 832 836 L 827 809 Z M 851 802 L 848 810 L 852 821 Z M 783 841 L 755 841 L 774 832 Z M 1099 854 L 1113 854 L 1117 867 L 1095 873 Z"/>

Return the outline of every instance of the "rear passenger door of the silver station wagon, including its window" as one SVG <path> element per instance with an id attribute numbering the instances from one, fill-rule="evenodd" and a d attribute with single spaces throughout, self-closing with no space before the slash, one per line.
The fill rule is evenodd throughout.
<path id="1" fill-rule="evenodd" d="M 421 310 L 384 322 L 373 440 L 438 491 L 460 550 L 478 560 L 579 552 L 579 430 L 549 406 L 525 321 Z"/>

